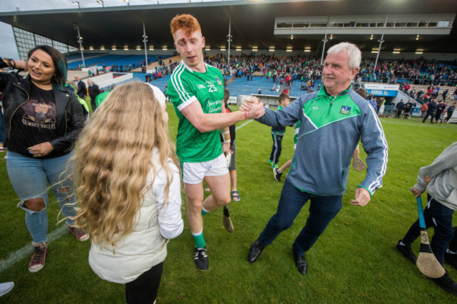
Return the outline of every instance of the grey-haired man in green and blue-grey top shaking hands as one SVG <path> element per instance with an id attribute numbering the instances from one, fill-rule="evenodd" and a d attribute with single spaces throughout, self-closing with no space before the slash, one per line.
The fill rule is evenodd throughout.
<path id="1" fill-rule="evenodd" d="M 342 208 L 352 154 L 361 140 L 368 154 L 366 177 L 356 187 L 354 206 L 366 206 L 382 186 L 387 165 L 387 141 L 373 107 L 352 90 L 359 73 L 361 52 L 347 42 L 328 49 L 323 63 L 320 91 L 302 95 L 281 111 L 266 110 L 258 119 L 269 126 L 290 126 L 301 121 L 297 150 L 285 178 L 278 211 L 251 245 L 248 259 L 254 263 L 265 246 L 292 226 L 307 201 L 307 223 L 292 244 L 295 265 L 307 273 L 305 252 L 321 236 Z M 243 103 L 240 109 L 249 109 Z"/>

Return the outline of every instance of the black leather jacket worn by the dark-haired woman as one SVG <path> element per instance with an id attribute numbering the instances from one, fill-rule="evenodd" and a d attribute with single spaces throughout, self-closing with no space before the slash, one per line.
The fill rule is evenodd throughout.
<path id="1" fill-rule="evenodd" d="M 0 91 L 3 92 L 2 103 L 6 126 L 6 140 L 8 147 L 11 133 L 11 121 L 16 110 L 26 103 L 32 91 L 30 76 L 21 76 L 18 73 L 0 72 Z M 81 105 L 74 93 L 62 90 L 53 90 L 57 110 L 57 138 L 50 141 L 56 152 L 70 152 L 77 140 L 79 132 L 84 127 L 84 116 Z"/>

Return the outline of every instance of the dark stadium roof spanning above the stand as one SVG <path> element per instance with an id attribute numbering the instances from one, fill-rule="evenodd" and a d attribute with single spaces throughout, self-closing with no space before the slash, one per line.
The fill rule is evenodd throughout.
<path id="1" fill-rule="evenodd" d="M 101 46 L 118 49 L 128 46 L 143 48 L 143 21 L 148 36 L 148 47 L 155 49 L 167 46 L 174 48 L 169 32 L 169 22 L 177 14 L 191 13 L 198 18 L 207 46 L 226 46 L 228 23 L 231 20 L 233 40 L 231 48 L 282 50 L 305 47 L 319 54 L 323 34 L 302 35 L 290 39 L 274 34 L 275 18 L 335 15 L 394 15 L 456 13 L 456 0 L 241 0 L 199 2 L 190 4 L 153 4 L 148 6 L 115 6 L 105 8 L 81 8 L 53 11 L 18 11 L 0 13 L 0 21 L 39 34 L 50 39 L 79 47 L 75 24 L 79 25 L 83 46 L 88 49 Z M 416 34 L 385 35 L 382 50 L 394 48 L 402 52 L 414 52 L 422 48 L 425 52 L 456 53 L 457 29 L 453 20 L 451 33 L 446 36 Z M 332 34 L 332 32 L 328 32 Z M 373 40 L 367 35 L 335 35 L 331 43 L 352 41 L 362 51 L 378 47 L 380 34 Z M 320 49 L 320 51 L 319 51 Z"/>

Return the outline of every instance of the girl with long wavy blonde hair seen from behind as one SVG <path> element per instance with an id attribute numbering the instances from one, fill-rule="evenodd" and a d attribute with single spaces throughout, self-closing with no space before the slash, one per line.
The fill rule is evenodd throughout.
<path id="1" fill-rule="evenodd" d="M 153 303 L 167 242 L 181 234 L 181 183 L 165 95 L 150 84 L 117 86 L 75 149 L 77 223 L 92 241 L 89 264 L 126 284 L 127 303 Z"/>

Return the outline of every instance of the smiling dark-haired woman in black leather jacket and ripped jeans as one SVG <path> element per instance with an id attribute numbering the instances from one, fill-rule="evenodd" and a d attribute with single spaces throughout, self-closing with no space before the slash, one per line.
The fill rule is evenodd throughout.
<path id="1" fill-rule="evenodd" d="M 74 93 L 65 89 L 67 61 L 51 46 L 37 46 L 28 61 L 4 60 L 9 67 L 25 69 L 18 73 L 0 73 L 6 124 L 6 168 L 11 185 L 25 211 L 25 224 L 34 246 L 29 264 L 37 272 L 46 260 L 48 183 L 60 203 L 63 216 L 75 216 L 75 194 L 68 160 L 79 132 L 84 126 L 81 105 Z M 3 63 L 3 62 L 2 62 Z M 89 235 L 72 227 L 70 232 L 84 241 Z"/>

